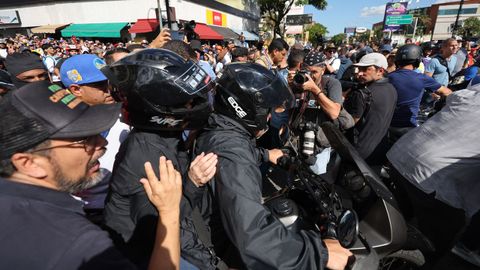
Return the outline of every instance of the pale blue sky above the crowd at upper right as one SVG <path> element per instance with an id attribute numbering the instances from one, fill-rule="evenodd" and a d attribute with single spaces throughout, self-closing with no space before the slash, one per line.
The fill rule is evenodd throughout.
<path id="1" fill-rule="evenodd" d="M 327 0 L 326 10 L 317 10 L 313 6 L 306 6 L 305 13 L 313 14 L 313 20 L 327 27 L 328 35 L 343 33 L 345 27 L 363 26 L 368 29 L 372 24 L 383 20 L 386 0 Z M 434 3 L 448 2 L 449 0 L 405 0 L 409 1 L 408 8 L 430 6 Z M 393 1 L 399 2 L 399 1 Z"/>

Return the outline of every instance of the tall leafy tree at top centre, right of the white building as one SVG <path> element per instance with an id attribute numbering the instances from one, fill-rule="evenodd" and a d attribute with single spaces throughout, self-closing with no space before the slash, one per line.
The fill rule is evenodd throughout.
<path id="1" fill-rule="evenodd" d="M 263 17 L 273 23 L 274 36 L 283 37 L 285 29 L 281 27 L 282 20 L 294 3 L 299 6 L 309 4 L 320 10 L 327 7 L 327 0 L 259 0 L 258 4 Z"/>

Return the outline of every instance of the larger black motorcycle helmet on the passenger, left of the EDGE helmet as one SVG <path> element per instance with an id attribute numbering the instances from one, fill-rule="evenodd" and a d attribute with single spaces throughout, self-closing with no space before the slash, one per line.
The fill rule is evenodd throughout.
<path id="1" fill-rule="evenodd" d="M 212 112 L 214 83 L 192 61 L 163 49 L 131 53 L 102 72 L 124 102 L 127 122 L 139 129 L 180 131 L 203 127 Z"/>

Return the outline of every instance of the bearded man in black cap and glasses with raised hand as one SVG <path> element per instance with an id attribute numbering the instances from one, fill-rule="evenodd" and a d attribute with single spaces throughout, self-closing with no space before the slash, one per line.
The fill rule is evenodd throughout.
<path id="1" fill-rule="evenodd" d="M 71 195 L 97 181 L 106 145 L 99 133 L 118 112 L 117 105 L 90 107 L 48 82 L 28 84 L 0 103 L 0 269 L 134 269 Z M 174 269 L 180 175 L 165 158 L 161 181 L 150 163 L 145 170 L 141 182 L 162 219 L 151 263 Z"/>

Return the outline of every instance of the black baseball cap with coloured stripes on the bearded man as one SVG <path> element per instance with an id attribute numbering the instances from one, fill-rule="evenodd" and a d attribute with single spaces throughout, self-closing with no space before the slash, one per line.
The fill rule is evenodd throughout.
<path id="1" fill-rule="evenodd" d="M 0 158 L 10 158 L 47 139 L 100 134 L 113 126 L 120 106 L 89 106 L 58 85 L 29 83 L 0 102 Z"/>

